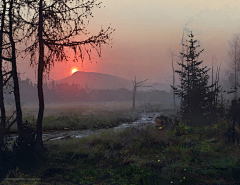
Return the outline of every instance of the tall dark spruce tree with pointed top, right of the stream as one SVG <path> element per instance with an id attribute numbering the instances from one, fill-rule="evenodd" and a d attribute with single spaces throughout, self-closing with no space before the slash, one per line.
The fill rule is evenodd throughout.
<path id="1" fill-rule="evenodd" d="M 201 67 L 203 61 L 197 60 L 203 50 L 197 52 L 196 48 L 200 45 L 196 45 L 197 40 L 194 40 L 192 33 L 188 36 L 190 40 L 187 41 L 187 44 L 183 44 L 186 47 L 186 54 L 180 53 L 185 58 L 185 62 L 178 62 L 182 70 L 175 71 L 180 76 L 181 84 L 178 87 L 171 87 L 181 99 L 180 113 L 183 118 L 193 124 L 206 123 L 212 113 L 212 101 L 218 88 L 211 91 L 211 87 L 216 83 L 208 86 L 209 75 L 207 72 L 210 68 Z"/>

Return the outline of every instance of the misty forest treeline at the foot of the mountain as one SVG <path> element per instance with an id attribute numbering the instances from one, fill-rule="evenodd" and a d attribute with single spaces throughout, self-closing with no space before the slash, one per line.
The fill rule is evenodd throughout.
<path id="1" fill-rule="evenodd" d="M 21 101 L 23 104 L 34 104 L 37 99 L 37 85 L 32 83 L 28 78 L 19 81 Z M 101 101 L 132 101 L 133 92 L 125 89 L 89 89 L 81 87 L 78 84 L 61 83 L 43 85 L 46 103 L 67 103 L 67 102 L 101 102 Z M 6 92 L 5 102 L 13 100 L 13 94 Z M 166 91 L 151 90 L 139 91 L 136 95 L 136 101 L 146 102 L 163 102 L 170 101 L 171 94 Z"/>

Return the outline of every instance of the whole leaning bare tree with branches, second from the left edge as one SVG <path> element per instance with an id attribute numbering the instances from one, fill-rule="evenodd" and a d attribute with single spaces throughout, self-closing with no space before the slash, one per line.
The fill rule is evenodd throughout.
<path id="1" fill-rule="evenodd" d="M 3 75 L 3 86 L 5 89 L 8 88 L 9 93 L 14 93 L 16 111 L 13 112 L 13 115 L 5 121 L 5 131 L 17 122 L 18 133 L 20 138 L 23 138 L 23 127 L 22 127 L 22 110 L 20 104 L 20 93 L 19 93 L 19 83 L 18 83 L 18 74 L 17 74 L 17 63 L 16 63 L 16 42 L 20 42 L 19 38 L 15 38 L 17 31 L 20 27 L 19 22 L 16 18 L 16 1 L 10 0 L 8 2 L 3 2 L 6 6 L 6 11 L 4 13 L 5 17 L 2 22 L 4 22 L 4 39 L 1 40 L 2 49 L 4 52 L 1 52 L 1 60 L 4 61 L 5 68 L 2 68 L 1 75 Z M 17 41 L 15 41 L 17 40 Z M 8 66 L 6 69 L 6 66 Z M 10 68 L 10 69 L 9 69 Z M 12 81 L 11 81 L 12 80 Z M 16 114 L 16 118 L 14 116 Z M 13 120 L 12 120 L 13 119 Z M 11 121 L 11 122 L 10 122 Z"/>

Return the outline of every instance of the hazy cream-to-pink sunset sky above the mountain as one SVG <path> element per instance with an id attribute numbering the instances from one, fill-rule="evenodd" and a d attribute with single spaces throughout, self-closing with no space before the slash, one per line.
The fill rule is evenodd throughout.
<path id="1" fill-rule="evenodd" d="M 89 30 L 96 34 L 110 24 L 115 29 L 110 45 L 103 46 L 102 57 L 90 63 L 56 63 L 49 80 L 71 75 L 71 69 L 98 72 L 131 80 L 172 83 L 169 50 L 179 55 L 181 39 L 192 31 L 204 52 L 199 60 L 214 71 L 221 63 L 221 76 L 228 69 L 228 41 L 240 33 L 240 1 L 236 0 L 103 0 L 102 8 L 93 9 Z M 174 68 L 178 69 L 174 58 Z M 29 58 L 18 59 L 21 77 L 36 82 L 36 69 Z M 177 76 L 176 76 L 177 77 Z"/>

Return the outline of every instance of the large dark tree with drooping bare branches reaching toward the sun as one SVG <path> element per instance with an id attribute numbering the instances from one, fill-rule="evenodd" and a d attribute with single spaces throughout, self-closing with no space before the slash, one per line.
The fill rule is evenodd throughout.
<path id="1" fill-rule="evenodd" d="M 86 30 L 92 9 L 100 8 L 97 0 L 24 0 L 30 12 L 20 17 L 27 26 L 25 38 L 31 43 L 26 52 L 31 54 L 31 65 L 37 66 L 37 87 L 39 112 L 35 148 L 43 147 L 42 120 L 44 114 L 43 74 L 49 73 L 55 62 L 68 61 L 69 52 L 75 60 L 84 60 L 85 55 L 92 59 L 92 49 L 101 57 L 101 46 L 108 44 L 114 31 L 111 27 L 101 29 L 98 34 L 90 35 Z M 79 37 L 81 36 L 81 38 Z"/>

